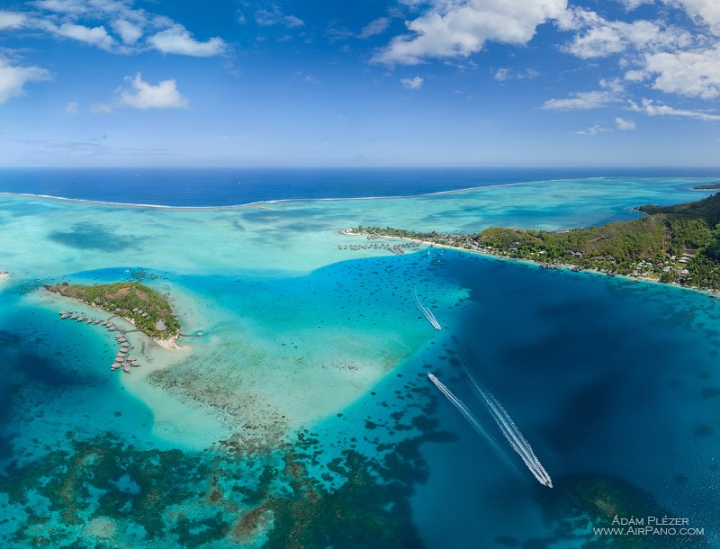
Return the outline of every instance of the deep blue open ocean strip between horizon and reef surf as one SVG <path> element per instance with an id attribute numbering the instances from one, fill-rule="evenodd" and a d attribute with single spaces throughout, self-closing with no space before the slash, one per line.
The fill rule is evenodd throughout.
<path id="1" fill-rule="evenodd" d="M 269 200 L 412 196 L 576 177 L 716 177 L 718 168 L 2 168 L 0 192 L 133 204 L 230 206 Z"/>

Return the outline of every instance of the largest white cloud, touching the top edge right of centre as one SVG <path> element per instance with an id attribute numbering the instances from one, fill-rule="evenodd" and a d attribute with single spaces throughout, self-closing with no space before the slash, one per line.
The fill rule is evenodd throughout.
<path id="1" fill-rule="evenodd" d="M 567 0 L 434 0 L 419 18 L 406 22 L 375 57 L 389 65 L 417 65 L 425 58 L 468 57 L 486 41 L 527 44 L 538 25 L 560 17 Z"/>

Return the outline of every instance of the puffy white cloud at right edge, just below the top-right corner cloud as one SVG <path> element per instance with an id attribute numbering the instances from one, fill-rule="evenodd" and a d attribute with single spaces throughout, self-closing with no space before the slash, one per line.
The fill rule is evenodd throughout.
<path id="1" fill-rule="evenodd" d="M 720 96 L 720 44 L 705 50 L 648 55 L 645 70 L 659 75 L 653 87 L 662 92 L 702 99 Z"/>

